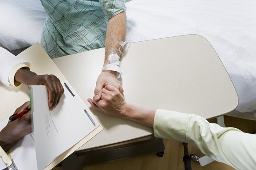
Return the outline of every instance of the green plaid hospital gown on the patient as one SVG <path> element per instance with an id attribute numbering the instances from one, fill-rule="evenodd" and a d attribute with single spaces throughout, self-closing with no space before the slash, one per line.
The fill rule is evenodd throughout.
<path id="1" fill-rule="evenodd" d="M 41 45 L 51 58 L 105 47 L 108 19 L 130 0 L 41 0 L 48 18 Z"/>

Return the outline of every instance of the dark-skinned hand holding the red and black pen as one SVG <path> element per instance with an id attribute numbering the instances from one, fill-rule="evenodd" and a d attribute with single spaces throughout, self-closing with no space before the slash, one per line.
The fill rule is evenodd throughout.
<path id="1" fill-rule="evenodd" d="M 20 113 L 25 109 L 30 109 L 30 102 L 27 101 L 19 108 L 15 110 L 14 113 Z M 8 151 L 15 143 L 27 134 L 32 133 L 31 127 L 31 110 L 27 112 L 22 117 L 9 122 L 3 130 L 0 131 L 0 145 L 4 151 Z"/>

